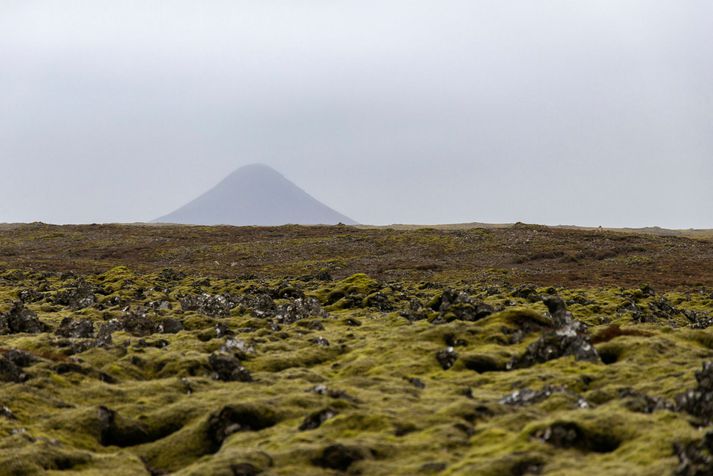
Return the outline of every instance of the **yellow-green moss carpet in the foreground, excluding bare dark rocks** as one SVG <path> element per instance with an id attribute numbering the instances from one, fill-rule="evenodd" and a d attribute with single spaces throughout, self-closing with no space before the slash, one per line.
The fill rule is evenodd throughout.
<path id="1" fill-rule="evenodd" d="M 448 249 L 451 238 L 437 235 L 419 232 L 418 245 Z M 403 235 L 394 232 L 382 245 L 396 246 L 401 240 Z M 307 241 L 318 246 L 319 240 Z M 250 244 L 225 246 L 236 253 L 252 249 Z M 217 252 L 212 247 L 201 251 L 206 259 Z M 3 303 L 15 300 L 21 289 L 39 288 L 42 280 L 51 293 L 75 279 L 7 276 L 12 281 L 0 285 Z M 443 283 L 404 278 L 382 284 L 366 274 L 337 281 L 287 276 L 205 282 L 197 274 L 166 280 L 155 270 L 142 274 L 124 267 L 81 277 L 106 293 L 98 295 L 98 305 L 72 310 L 40 300 L 28 308 L 54 330 L 64 317 L 89 318 L 96 327 L 109 318 L 121 319 L 121 307 L 110 304 L 112 297 L 132 307 L 166 299 L 172 309 L 150 311 L 150 318 L 180 319 L 184 330 L 142 340 L 117 331 L 112 345 L 86 350 L 78 345 L 84 340 L 53 333 L 0 336 L 0 349 L 23 349 L 38 359 L 23 370 L 27 382 L 0 382 L 0 407 L 14 415 L 0 416 L 5 455 L 0 467 L 8 471 L 148 474 L 148 464 L 178 475 L 230 475 L 232 465 L 249 463 L 265 474 L 333 474 L 317 461 L 325 447 L 342 444 L 362 458 L 349 471 L 363 474 L 438 469 L 441 474 L 500 475 L 534 465 L 547 475 L 654 475 L 668 474 L 678 464 L 674 443 L 701 438 L 684 413 L 644 413 L 621 395 L 629 389 L 673 402 L 696 385 L 696 370 L 713 359 L 713 334 L 686 327 L 684 311 L 712 312 L 706 293 L 650 296 L 638 288 L 556 288 L 592 336 L 606 334 L 595 342 L 604 362 L 565 357 L 508 370 L 508 362 L 554 324 L 536 298 L 513 297 L 500 281 L 496 291 L 489 281 L 448 283 L 498 312 L 477 322 L 430 323 L 412 322 L 400 312 L 412 300 L 429 302 L 442 292 Z M 330 316 L 283 323 L 278 330 L 269 317 L 252 317 L 246 309 L 214 318 L 183 312 L 178 302 L 179 296 L 196 292 L 279 294 L 288 288 L 316 296 Z M 550 291 L 537 288 L 536 294 Z M 376 302 L 382 295 L 386 301 Z M 659 298 L 680 312 L 656 316 L 652 306 Z M 638 321 L 626 307 L 632 301 L 641 309 Z M 380 303 L 393 311 L 377 310 Z M 255 348 L 240 355 L 253 382 L 213 378 L 208 357 L 226 342 L 215 331 L 218 324 Z M 444 370 L 436 353 L 449 345 L 458 359 Z M 60 365 L 70 370 L 60 374 Z M 563 390 L 531 404 L 503 403 L 516 390 L 546 386 Z M 102 444 L 100 406 L 116 412 L 120 434 L 134 435 L 139 428 L 142 436 L 132 444 Z M 226 406 L 251 409 L 272 424 L 239 428 L 216 445 L 208 435 L 209 421 Z M 326 408 L 334 410 L 331 418 L 300 430 L 305 418 Z M 554 424 L 579 429 L 582 442 L 562 448 L 543 441 L 541 432 Z"/>

